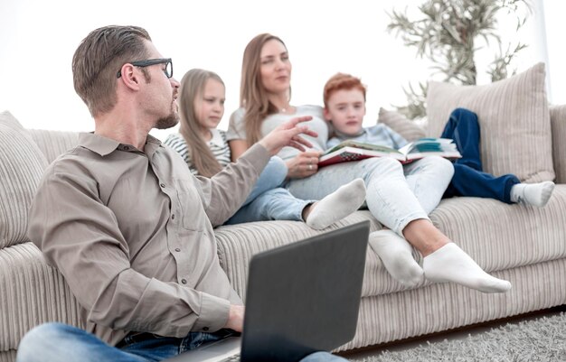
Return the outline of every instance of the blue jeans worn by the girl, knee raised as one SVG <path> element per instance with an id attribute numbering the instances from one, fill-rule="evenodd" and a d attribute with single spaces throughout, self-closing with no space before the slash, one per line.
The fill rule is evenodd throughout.
<path id="1" fill-rule="evenodd" d="M 285 181 L 287 172 L 287 164 L 283 160 L 277 156 L 271 157 L 248 199 L 225 224 L 266 220 L 303 221 L 303 209 L 315 200 L 299 200 L 287 189 L 279 187 Z"/>

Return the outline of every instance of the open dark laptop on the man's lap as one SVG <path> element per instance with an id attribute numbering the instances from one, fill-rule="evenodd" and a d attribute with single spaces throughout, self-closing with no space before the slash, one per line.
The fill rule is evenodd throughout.
<path id="1" fill-rule="evenodd" d="M 169 362 L 297 362 L 354 338 L 369 221 L 280 246 L 250 260 L 241 336 Z"/>

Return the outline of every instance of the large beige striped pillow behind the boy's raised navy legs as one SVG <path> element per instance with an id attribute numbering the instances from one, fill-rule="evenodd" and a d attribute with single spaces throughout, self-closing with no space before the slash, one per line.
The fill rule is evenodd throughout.
<path id="1" fill-rule="evenodd" d="M 476 113 L 485 172 L 521 181 L 552 181 L 552 135 L 544 63 L 485 86 L 429 82 L 427 135 L 438 137 L 457 107 Z"/>

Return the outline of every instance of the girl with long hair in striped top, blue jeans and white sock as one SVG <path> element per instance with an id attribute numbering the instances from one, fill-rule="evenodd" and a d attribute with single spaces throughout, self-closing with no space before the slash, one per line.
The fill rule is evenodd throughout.
<path id="1" fill-rule="evenodd" d="M 166 145 L 180 153 L 193 174 L 213 177 L 231 160 L 225 133 L 217 129 L 224 114 L 222 79 L 208 70 L 189 70 L 179 91 L 179 134 L 169 135 Z M 299 200 L 278 186 L 287 177 L 287 166 L 273 157 L 259 176 L 243 207 L 227 224 L 261 220 L 305 220 L 309 227 L 330 226 L 358 209 L 365 199 L 363 181 L 355 180 L 323 200 Z"/>

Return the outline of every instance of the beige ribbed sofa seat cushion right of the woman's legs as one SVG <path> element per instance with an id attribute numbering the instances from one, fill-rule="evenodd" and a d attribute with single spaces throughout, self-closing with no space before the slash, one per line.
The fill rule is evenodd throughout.
<path id="1" fill-rule="evenodd" d="M 457 197 L 430 219 L 487 272 L 566 257 L 566 185 L 556 185 L 544 208 Z"/>

